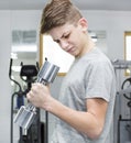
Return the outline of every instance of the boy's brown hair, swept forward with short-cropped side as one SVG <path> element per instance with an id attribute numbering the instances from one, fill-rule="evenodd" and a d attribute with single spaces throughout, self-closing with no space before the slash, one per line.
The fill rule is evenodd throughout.
<path id="1" fill-rule="evenodd" d="M 79 10 L 69 0 L 52 0 L 42 13 L 41 34 L 65 23 L 76 23 L 81 18 Z"/>

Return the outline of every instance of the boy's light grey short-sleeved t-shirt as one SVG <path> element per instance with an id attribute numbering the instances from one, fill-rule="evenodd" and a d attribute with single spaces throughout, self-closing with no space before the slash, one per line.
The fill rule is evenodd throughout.
<path id="1" fill-rule="evenodd" d="M 114 72 L 110 61 L 97 47 L 75 59 L 63 80 L 59 101 L 78 111 L 87 111 L 88 98 L 109 102 L 103 131 L 98 140 L 90 140 L 66 122 L 57 119 L 51 143 L 111 143 L 110 131 L 116 97 Z M 87 119 L 88 120 L 88 119 Z"/>

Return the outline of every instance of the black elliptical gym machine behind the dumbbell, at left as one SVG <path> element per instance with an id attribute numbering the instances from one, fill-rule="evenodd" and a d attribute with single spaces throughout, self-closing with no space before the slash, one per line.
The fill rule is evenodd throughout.
<path id="1" fill-rule="evenodd" d="M 31 84 L 36 80 L 36 76 L 39 73 L 39 64 L 36 65 L 23 65 L 21 63 L 20 78 L 26 84 L 26 89 L 22 89 L 22 86 L 12 78 L 12 64 L 13 59 L 10 59 L 10 69 L 9 69 L 9 78 L 13 81 L 18 87 L 18 91 L 14 91 L 11 96 L 11 127 L 10 127 L 10 142 L 13 143 L 13 116 L 14 116 L 14 99 L 17 99 L 17 109 L 19 110 L 22 106 L 24 106 L 24 99 L 28 91 L 31 89 Z M 32 125 L 28 130 L 23 130 L 21 127 L 19 129 L 19 143 L 44 143 L 43 135 L 44 134 L 44 123 L 40 121 L 40 113 L 37 111 L 37 119 L 32 123 Z"/>

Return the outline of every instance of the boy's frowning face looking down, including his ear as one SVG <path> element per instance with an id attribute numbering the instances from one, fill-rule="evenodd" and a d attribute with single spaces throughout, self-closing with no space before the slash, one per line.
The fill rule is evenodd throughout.
<path id="1" fill-rule="evenodd" d="M 80 19 L 81 20 L 81 19 Z M 76 25 L 66 23 L 50 31 L 53 40 L 67 53 L 75 57 L 85 54 L 87 43 L 87 23 L 81 20 Z"/>

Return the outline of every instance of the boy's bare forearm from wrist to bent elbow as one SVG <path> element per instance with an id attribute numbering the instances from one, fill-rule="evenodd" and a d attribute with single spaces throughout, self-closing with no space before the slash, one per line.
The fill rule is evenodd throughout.
<path id="1" fill-rule="evenodd" d="M 90 139 L 96 139 L 101 133 L 102 124 L 92 113 L 73 110 L 54 98 L 43 108 Z"/>

